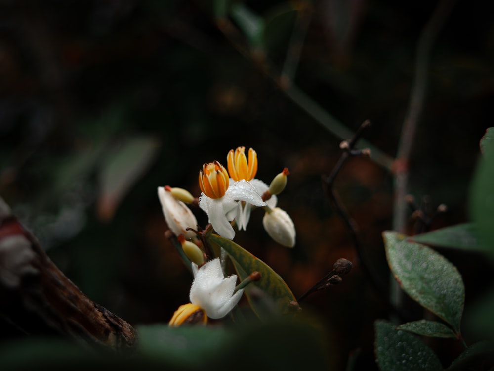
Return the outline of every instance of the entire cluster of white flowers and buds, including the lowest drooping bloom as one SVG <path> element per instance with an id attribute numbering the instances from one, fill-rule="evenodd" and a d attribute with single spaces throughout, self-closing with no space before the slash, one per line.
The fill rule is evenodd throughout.
<path id="1" fill-rule="evenodd" d="M 197 203 L 206 212 L 214 231 L 228 239 L 235 237 L 234 226 L 238 230 L 247 229 L 252 210 L 263 209 L 262 224 L 271 238 L 287 247 L 295 244 L 294 224 L 287 212 L 276 206 L 277 195 L 287 184 L 288 169 L 285 168 L 267 185 L 255 178 L 256 152 L 250 148 L 246 156 L 245 147 L 228 152 L 227 167 L 228 170 L 218 161 L 203 165 L 199 171 L 201 195 L 198 198 L 182 188 L 158 187 L 165 221 L 177 236 L 181 251 L 191 261 L 194 274 L 190 303 L 178 308 L 170 326 L 205 324 L 207 318 L 226 316 L 239 302 L 243 293 L 241 287 L 253 279 L 249 278 L 236 287 L 237 276 L 225 278 L 219 258 L 207 261 L 211 257 L 199 247 L 197 220 L 188 204 Z"/>

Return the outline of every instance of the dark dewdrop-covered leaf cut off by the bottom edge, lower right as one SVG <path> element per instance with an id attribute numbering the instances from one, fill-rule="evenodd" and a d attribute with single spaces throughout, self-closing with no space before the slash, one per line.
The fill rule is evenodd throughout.
<path id="1" fill-rule="evenodd" d="M 434 352 L 410 332 L 397 330 L 384 320 L 375 326 L 374 352 L 381 371 L 437 371 L 441 362 Z"/>

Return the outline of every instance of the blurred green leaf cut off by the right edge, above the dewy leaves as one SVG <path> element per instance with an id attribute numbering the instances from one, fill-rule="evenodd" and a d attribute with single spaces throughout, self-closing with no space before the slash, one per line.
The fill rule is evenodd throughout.
<path id="1" fill-rule="evenodd" d="M 484 156 L 479 159 L 470 185 L 469 212 L 479 232 L 483 250 L 494 259 L 494 150 L 484 142 Z M 487 149 L 489 148 L 489 149 Z"/>

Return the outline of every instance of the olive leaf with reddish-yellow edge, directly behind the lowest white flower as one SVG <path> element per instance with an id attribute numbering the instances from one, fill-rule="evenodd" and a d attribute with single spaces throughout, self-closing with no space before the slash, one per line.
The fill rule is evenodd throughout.
<path id="1" fill-rule="evenodd" d="M 245 290 L 249 303 L 258 316 L 262 316 L 265 313 L 266 303 L 269 301 L 278 304 L 282 312 L 293 308 L 290 302 L 296 301 L 296 299 L 291 290 L 285 281 L 266 263 L 257 259 L 242 246 L 217 234 L 211 233 L 206 236 L 206 239 L 208 239 L 209 243 L 222 247 L 228 253 L 241 280 L 246 279 L 254 271 L 261 274 L 261 279 L 249 284 Z M 261 292 L 259 292 L 259 289 Z M 255 295 L 257 300 L 250 295 L 252 292 L 257 293 Z"/>

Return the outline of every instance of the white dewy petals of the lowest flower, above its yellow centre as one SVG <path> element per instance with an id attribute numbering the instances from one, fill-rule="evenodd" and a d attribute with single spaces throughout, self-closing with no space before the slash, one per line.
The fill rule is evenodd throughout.
<path id="1" fill-rule="evenodd" d="M 239 302 L 244 289 L 234 293 L 237 275 L 223 275 L 219 258 L 208 261 L 198 268 L 192 263 L 194 281 L 190 288 L 190 302 L 201 307 L 207 317 L 225 317 Z"/>

